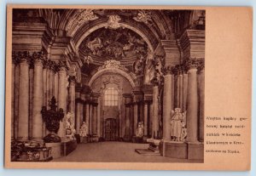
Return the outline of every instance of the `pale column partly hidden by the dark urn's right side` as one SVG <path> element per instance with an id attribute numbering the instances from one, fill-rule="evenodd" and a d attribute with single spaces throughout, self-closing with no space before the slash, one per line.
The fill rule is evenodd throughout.
<path id="1" fill-rule="evenodd" d="M 67 67 L 64 63 L 60 63 L 59 82 L 58 82 L 58 109 L 62 108 L 65 116 L 67 115 Z M 64 128 L 65 117 L 60 122 L 60 129 L 58 135 L 61 138 L 65 137 L 65 128 Z"/>

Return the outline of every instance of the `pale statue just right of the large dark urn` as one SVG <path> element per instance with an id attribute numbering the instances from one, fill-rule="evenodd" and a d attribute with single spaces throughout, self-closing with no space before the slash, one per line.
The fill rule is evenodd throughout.
<path id="1" fill-rule="evenodd" d="M 66 120 L 66 137 L 68 139 L 75 139 L 74 134 L 76 133 L 76 130 L 74 128 L 74 114 L 73 111 L 67 112 L 67 120 Z"/>

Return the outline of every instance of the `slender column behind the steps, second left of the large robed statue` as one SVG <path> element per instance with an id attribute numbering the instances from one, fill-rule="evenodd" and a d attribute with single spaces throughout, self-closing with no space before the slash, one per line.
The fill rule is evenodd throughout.
<path id="1" fill-rule="evenodd" d="M 152 116 L 152 136 L 154 139 L 160 136 L 159 130 L 159 87 L 154 84 L 153 87 L 153 116 Z"/>

